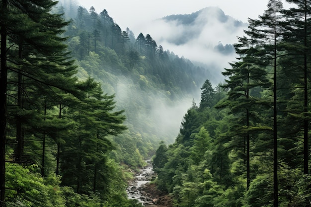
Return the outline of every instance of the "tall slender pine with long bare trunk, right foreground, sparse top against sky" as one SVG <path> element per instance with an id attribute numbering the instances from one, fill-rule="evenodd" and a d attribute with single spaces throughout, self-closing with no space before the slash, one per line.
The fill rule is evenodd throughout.
<path id="1" fill-rule="evenodd" d="M 280 54 L 279 42 L 281 37 L 281 22 L 283 9 L 282 1 L 269 0 L 267 10 L 259 16 L 259 20 L 249 21 L 249 31 L 246 31 L 253 40 L 265 49 L 265 57 L 273 68 L 273 186 L 274 186 L 274 207 L 278 206 L 278 85 L 277 85 L 277 58 Z"/>

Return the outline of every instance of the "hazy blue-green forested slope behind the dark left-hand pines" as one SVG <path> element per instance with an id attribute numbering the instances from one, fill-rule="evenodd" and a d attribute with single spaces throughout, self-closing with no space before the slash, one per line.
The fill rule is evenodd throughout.
<path id="1" fill-rule="evenodd" d="M 157 45 L 150 34 L 135 37 L 129 28 L 122 31 L 105 9 L 97 12 L 77 6 L 76 12 L 67 15 L 70 9 L 64 6 L 59 4 L 54 12 L 65 12 L 71 20 L 65 35 L 77 59 L 78 77 L 94 77 L 106 93 L 115 94 L 117 109 L 125 110 L 128 126 L 115 138 L 124 151 L 120 161 L 141 164 L 138 160 L 154 153 L 160 140 L 173 142 L 182 114 L 211 74 Z"/>

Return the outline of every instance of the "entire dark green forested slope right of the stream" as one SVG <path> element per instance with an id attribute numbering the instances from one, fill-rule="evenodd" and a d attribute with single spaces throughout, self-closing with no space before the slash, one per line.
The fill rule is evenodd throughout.
<path id="1" fill-rule="evenodd" d="M 156 150 L 156 184 L 176 206 L 310 207 L 311 4 L 288 2 L 249 19 L 226 97 L 205 82 L 175 142 Z"/>

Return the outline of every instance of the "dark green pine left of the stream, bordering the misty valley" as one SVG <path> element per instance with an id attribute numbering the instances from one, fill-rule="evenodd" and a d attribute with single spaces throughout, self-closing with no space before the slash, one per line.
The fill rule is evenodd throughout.
<path id="1" fill-rule="evenodd" d="M 102 94 L 100 84 L 93 79 L 88 78 L 77 87 L 83 91 L 83 103 L 68 109 L 68 116 L 76 122 L 76 132 L 67 136 L 66 145 L 61 148 L 60 174 L 63 184 L 72 186 L 78 193 L 89 194 L 107 184 L 98 185 L 102 180 L 98 172 L 107 167 L 106 153 L 113 149 L 107 136 L 116 136 L 126 129 L 122 125 L 125 117 L 123 111 L 112 112 L 114 96 Z"/>

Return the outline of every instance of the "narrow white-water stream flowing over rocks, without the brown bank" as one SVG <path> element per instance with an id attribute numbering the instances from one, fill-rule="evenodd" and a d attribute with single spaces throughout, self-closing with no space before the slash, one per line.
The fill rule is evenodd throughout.
<path id="1" fill-rule="evenodd" d="M 154 174 L 151 161 L 146 160 L 146 162 L 148 165 L 140 169 L 127 189 L 128 198 L 138 200 L 143 206 L 153 205 L 153 200 L 142 193 L 142 187 L 151 181 Z"/>

